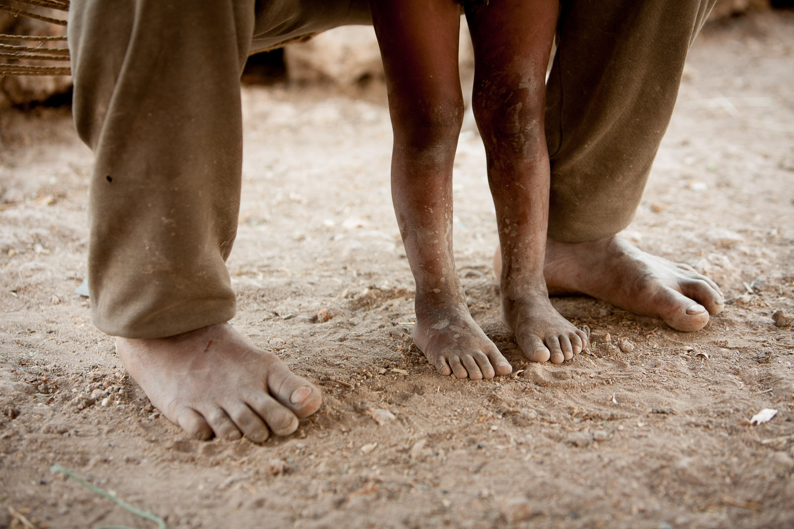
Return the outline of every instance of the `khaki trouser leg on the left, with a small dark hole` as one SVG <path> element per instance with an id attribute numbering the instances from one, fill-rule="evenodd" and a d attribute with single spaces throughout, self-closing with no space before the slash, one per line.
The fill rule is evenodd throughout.
<path id="1" fill-rule="evenodd" d="M 72 0 L 80 137 L 96 155 L 88 262 L 94 324 L 175 335 L 234 315 L 239 78 L 253 0 Z"/>

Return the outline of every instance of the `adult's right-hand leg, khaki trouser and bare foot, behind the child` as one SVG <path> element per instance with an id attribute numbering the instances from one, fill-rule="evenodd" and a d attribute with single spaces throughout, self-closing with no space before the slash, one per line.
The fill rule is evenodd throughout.
<path id="1" fill-rule="evenodd" d="M 586 293 L 696 331 L 723 295 L 615 236 L 634 216 L 713 1 L 563 0 L 546 92 L 549 293 Z"/>

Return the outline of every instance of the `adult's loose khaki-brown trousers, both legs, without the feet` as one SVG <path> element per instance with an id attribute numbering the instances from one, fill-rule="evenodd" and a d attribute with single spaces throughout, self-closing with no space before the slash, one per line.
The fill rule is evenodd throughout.
<path id="1" fill-rule="evenodd" d="M 562 0 L 546 93 L 551 239 L 629 224 L 713 3 Z M 96 155 L 98 328 L 155 338 L 234 316 L 225 259 L 240 205 L 245 59 L 368 21 L 362 0 L 71 0 L 75 125 Z"/>

